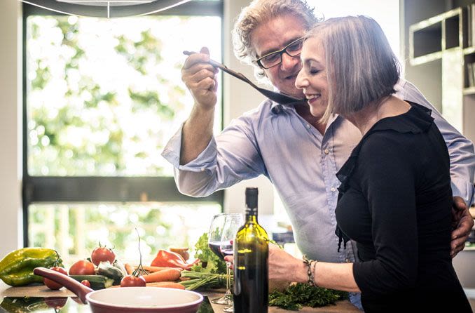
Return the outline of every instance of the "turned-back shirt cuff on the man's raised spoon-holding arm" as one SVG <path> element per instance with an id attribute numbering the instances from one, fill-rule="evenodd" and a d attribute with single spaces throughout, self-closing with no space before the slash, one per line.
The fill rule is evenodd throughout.
<path id="1" fill-rule="evenodd" d="M 216 166 L 216 140 L 214 136 L 209 140 L 207 147 L 194 159 L 187 164 L 180 165 L 180 152 L 181 152 L 181 131 L 183 130 L 183 124 L 175 133 L 172 138 L 167 142 L 163 149 L 162 156 L 169 161 L 174 168 L 180 171 L 202 172 L 211 171 Z"/>

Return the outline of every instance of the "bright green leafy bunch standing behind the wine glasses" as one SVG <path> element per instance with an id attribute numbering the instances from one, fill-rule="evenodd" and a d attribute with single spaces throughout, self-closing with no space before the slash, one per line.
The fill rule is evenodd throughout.
<path id="1" fill-rule="evenodd" d="M 194 272 L 205 272 L 212 274 L 226 274 L 226 262 L 221 260 L 208 247 L 208 234 L 204 233 L 195 244 L 195 258 L 200 259 L 198 265 L 193 265 Z"/>

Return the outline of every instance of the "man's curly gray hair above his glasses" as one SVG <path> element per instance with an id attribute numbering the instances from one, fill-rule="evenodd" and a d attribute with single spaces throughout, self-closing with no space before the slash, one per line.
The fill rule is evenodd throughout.
<path id="1" fill-rule="evenodd" d="M 266 81 L 266 74 L 257 63 L 257 53 L 251 43 L 251 34 L 264 22 L 280 15 L 291 14 L 303 20 L 305 29 L 310 29 L 319 18 L 315 17 L 314 9 L 305 0 L 254 0 L 242 9 L 233 27 L 234 54 L 241 62 L 254 65 L 256 78 Z"/>

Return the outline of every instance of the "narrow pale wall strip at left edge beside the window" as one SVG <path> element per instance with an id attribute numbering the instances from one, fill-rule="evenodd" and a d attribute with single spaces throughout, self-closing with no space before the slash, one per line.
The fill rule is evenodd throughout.
<path id="1" fill-rule="evenodd" d="M 20 8 L 0 4 L 0 258 L 22 246 Z"/>

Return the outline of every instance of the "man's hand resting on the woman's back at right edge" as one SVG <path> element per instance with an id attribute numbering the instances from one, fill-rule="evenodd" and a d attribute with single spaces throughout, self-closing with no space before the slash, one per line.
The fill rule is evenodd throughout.
<path id="1" fill-rule="evenodd" d="M 474 227 L 474 219 L 471 218 L 469 208 L 464 199 L 453 197 L 452 204 L 452 241 L 450 241 L 450 257 L 454 258 L 465 247 L 465 241 L 469 238 L 471 227 Z"/>

